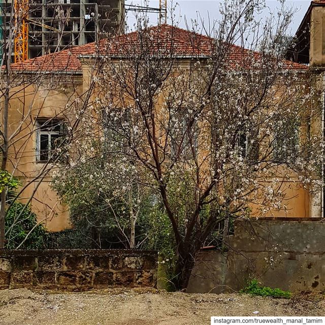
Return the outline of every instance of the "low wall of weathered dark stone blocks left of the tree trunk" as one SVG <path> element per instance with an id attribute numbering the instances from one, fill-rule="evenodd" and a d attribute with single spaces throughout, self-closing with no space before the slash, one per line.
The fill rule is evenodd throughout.
<path id="1" fill-rule="evenodd" d="M 0 250 L 0 289 L 153 287 L 157 259 L 148 250 Z"/>

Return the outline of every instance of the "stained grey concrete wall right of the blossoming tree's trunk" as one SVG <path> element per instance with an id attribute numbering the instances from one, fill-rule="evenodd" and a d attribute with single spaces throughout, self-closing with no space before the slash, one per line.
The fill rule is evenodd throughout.
<path id="1" fill-rule="evenodd" d="M 189 292 L 242 289 L 257 278 L 284 290 L 325 290 L 325 222 L 237 221 L 228 251 L 201 251 Z"/>

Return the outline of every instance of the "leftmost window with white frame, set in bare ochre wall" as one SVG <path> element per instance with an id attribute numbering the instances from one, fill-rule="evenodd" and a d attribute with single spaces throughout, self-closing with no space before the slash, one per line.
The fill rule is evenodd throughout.
<path id="1" fill-rule="evenodd" d="M 55 160 L 66 138 L 64 122 L 59 119 L 37 120 L 37 161 Z"/>

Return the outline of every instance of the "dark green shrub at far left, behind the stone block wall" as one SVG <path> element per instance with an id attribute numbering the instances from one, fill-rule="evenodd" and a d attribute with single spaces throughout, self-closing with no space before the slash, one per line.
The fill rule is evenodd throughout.
<path id="1" fill-rule="evenodd" d="M 14 202 L 7 211 L 5 221 L 7 249 L 17 248 L 34 227 L 20 248 L 42 249 L 45 247 L 47 231 L 43 224 L 37 224 L 36 214 L 31 211 L 30 206 L 25 207 L 20 202 Z"/>

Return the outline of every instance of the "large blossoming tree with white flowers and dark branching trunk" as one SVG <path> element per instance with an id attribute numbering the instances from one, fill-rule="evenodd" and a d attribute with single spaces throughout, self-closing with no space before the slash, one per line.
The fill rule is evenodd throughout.
<path id="1" fill-rule="evenodd" d="M 282 6 L 262 28 L 254 17 L 264 5 L 225 1 L 221 21 L 201 30 L 209 36 L 139 19 L 135 32 L 101 53 L 88 106 L 97 118 L 88 120 L 118 173 L 132 166 L 126 186 L 158 193 L 173 230 L 179 289 L 219 224 L 285 211 L 287 180 L 319 189 L 315 78 L 282 57 L 291 13 Z"/>

